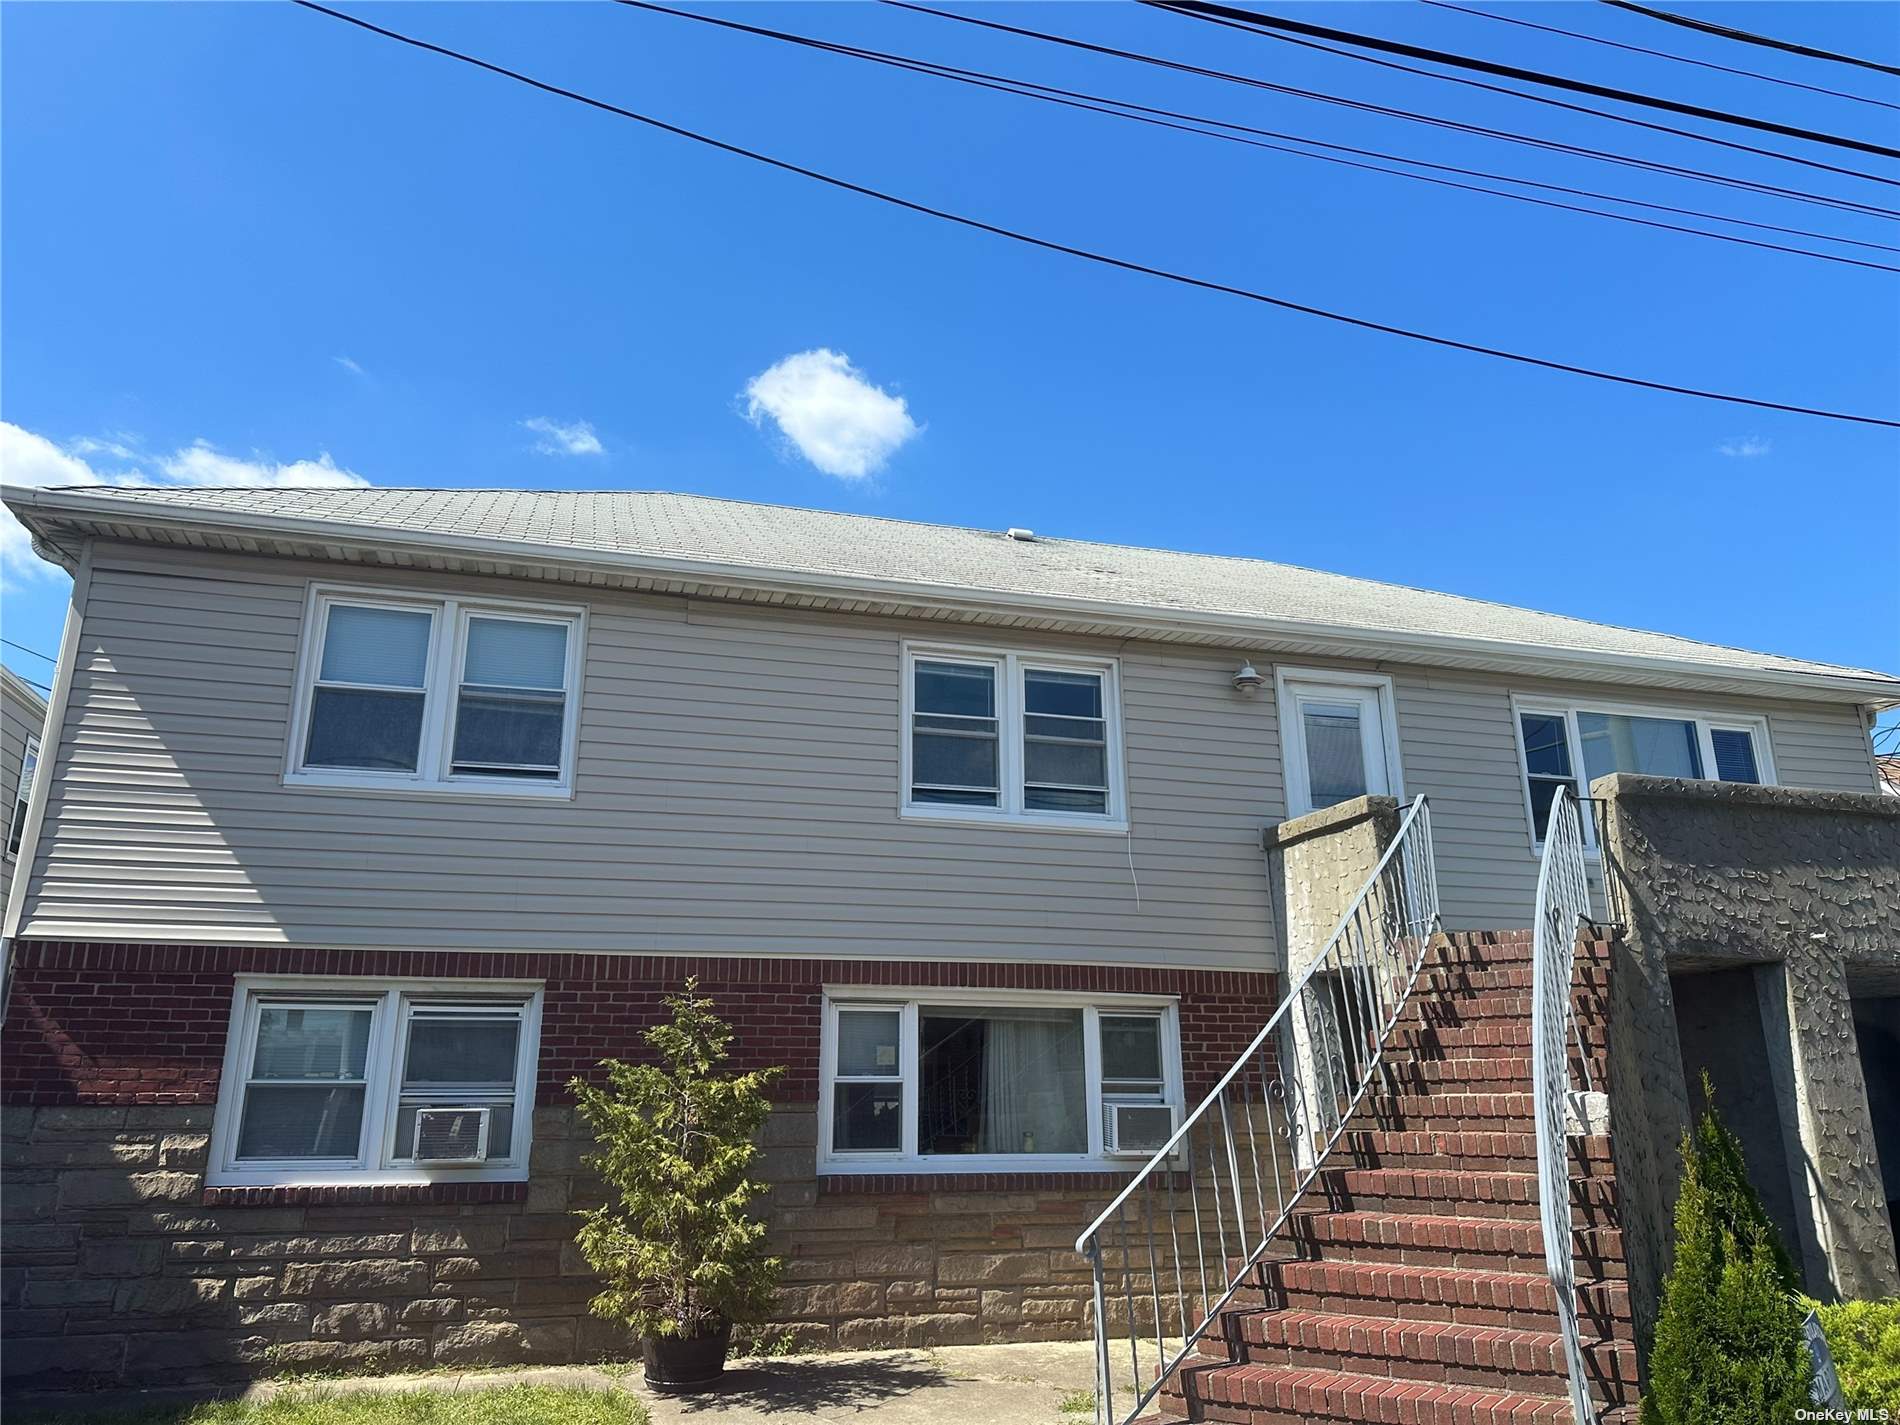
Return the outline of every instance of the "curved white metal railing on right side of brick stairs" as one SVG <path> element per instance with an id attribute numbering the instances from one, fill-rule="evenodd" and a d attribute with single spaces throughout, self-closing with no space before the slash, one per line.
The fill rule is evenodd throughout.
<path id="1" fill-rule="evenodd" d="M 1569 1404 L 1577 1425 L 1596 1425 L 1596 1404 L 1583 1366 L 1577 1334 L 1577 1262 L 1569 1220 L 1569 1039 L 1571 965 L 1577 929 L 1590 914 L 1590 882 L 1583 864 L 1583 811 L 1568 787 L 1550 802 L 1543 861 L 1537 866 L 1537 916 L 1531 922 L 1531 1106 L 1537 1119 L 1537 1216 L 1543 1224 L 1545 1273 L 1556 1298 Z M 1579 1064 L 1588 1083 L 1588 1054 L 1577 1037 Z"/>

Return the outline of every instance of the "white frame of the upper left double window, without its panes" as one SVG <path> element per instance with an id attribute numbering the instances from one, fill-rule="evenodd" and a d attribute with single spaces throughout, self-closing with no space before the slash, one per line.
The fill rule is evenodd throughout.
<path id="1" fill-rule="evenodd" d="M 422 684 L 422 743 L 414 771 L 376 771 L 372 768 L 306 768 L 310 712 L 317 673 L 323 665 L 323 638 L 329 610 L 397 608 L 429 614 L 429 652 Z M 471 618 L 505 618 L 524 623 L 559 623 L 568 631 L 564 669 L 566 701 L 560 720 L 560 775 L 532 781 L 507 775 L 452 771 L 454 726 L 460 707 L 464 654 Z M 283 785 L 300 788 L 348 788 L 357 792 L 399 792 L 407 796 L 530 796 L 572 798 L 574 756 L 580 741 L 581 663 L 587 646 L 587 610 L 578 604 L 543 604 L 519 598 L 466 595 L 422 595 L 399 589 L 372 589 L 348 583 L 312 583 L 304 598 L 304 627 L 296 652 L 296 697 L 291 709 L 291 735 L 285 747 Z M 403 690 L 414 692 L 414 690 Z"/>

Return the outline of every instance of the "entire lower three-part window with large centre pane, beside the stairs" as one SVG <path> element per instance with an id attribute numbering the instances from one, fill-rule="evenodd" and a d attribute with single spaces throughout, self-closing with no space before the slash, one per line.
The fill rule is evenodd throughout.
<path id="1" fill-rule="evenodd" d="M 1127 1163 L 1180 1104 L 1170 1001 L 840 990 L 823 1060 L 828 1172 Z"/>

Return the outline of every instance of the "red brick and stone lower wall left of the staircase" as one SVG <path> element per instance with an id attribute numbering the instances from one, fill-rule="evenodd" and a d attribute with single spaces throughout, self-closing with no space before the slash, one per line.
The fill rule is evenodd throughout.
<path id="1" fill-rule="evenodd" d="M 806 1349 L 1083 1338 L 1091 1275 L 1074 1243 L 1125 1174 L 819 1178 L 819 986 L 908 971 L 973 988 L 1172 992 L 1189 1102 L 1265 1022 L 1273 994 L 1267 975 L 1199 971 L 352 954 L 346 973 L 545 975 L 528 1182 L 207 1188 L 224 1043 L 211 1007 L 228 1016 L 239 971 L 344 967 L 285 950 L 19 952 L 0 1060 L 0 1368 L 15 1398 L 627 1357 L 625 1330 L 587 1311 L 597 1286 L 574 1212 L 600 1191 L 562 1085 L 604 1054 L 638 1056 L 659 994 L 688 973 L 739 1028 L 741 1062 L 790 1070 L 758 1167 L 787 1260 L 762 1336 Z M 165 971 L 169 958 L 180 969 Z M 167 1011 L 125 1015 L 122 1001 L 154 998 Z"/>

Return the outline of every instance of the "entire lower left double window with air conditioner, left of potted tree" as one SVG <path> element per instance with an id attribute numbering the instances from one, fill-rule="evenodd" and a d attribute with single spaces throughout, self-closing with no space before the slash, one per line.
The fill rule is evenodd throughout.
<path id="1" fill-rule="evenodd" d="M 542 996 L 239 978 L 213 1186 L 524 1178 Z"/>

